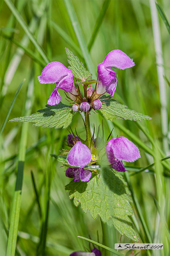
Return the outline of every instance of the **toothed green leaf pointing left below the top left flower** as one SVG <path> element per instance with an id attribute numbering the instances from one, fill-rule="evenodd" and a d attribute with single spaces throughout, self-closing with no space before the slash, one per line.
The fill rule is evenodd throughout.
<path id="1" fill-rule="evenodd" d="M 67 128 L 72 121 L 72 109 L 61 102 L 55 106 L 46 105 L 47 108 L 40 109 L 30 116 L 22 116 L 11 119 L 9 122 L 32 122 L 33 126 L 43 128 Z"/>

